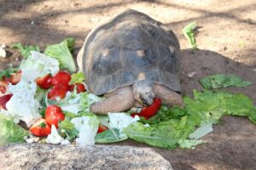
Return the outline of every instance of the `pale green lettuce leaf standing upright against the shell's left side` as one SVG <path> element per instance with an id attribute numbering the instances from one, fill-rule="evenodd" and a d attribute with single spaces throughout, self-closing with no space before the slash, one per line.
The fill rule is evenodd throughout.
<path id="1" fill-rule="evenodd" d="M 61 43 L 49 45 L 44 49 L 44 54 L 55 58 L 60 63 L 60 68 L 76 71 L 76 66 L 73 60 L 71 51 L 75 43 L 74 38 L 67 38 Z"/>

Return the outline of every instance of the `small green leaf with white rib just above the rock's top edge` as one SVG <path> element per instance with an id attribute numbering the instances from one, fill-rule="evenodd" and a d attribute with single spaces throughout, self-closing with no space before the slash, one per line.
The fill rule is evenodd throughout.
<path id="1" fill-rule="evenodd" d="M 97 133 L 95 140 L 98 144 L 108 144 L 119 142 L 127 139 L 126 136 L 123 136 L 122 133 L 119 132 L 119 129 L 108 129 L 102 133 Z"/>

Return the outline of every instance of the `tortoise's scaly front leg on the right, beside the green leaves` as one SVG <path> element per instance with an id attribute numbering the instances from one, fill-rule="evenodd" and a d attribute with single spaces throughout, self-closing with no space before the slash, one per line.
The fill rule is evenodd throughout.
<path id="1" fill-rule="evenodd" d="M 184 106 L 181 95 L 177 94 L 171 89 L 166 88 L 165 86 L 160 84 L 155 84 L 154 91 L 156 96 L 161 99 L 163 105 L 167 105 L 167 106 L 179 105 L 181 107 Z"/>

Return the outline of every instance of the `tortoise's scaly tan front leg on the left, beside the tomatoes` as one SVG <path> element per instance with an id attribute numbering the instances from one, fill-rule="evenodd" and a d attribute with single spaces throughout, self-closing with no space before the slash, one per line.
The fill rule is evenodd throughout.
<path id="1" fill-rule="evenodd" d="M 131 109 L 135 99 L 131 87 L 119 88 L 113 95 L 100 102 L 90 105 L 90 111 L 96 114 L 106 115 L 108 112 L 120 112 Z"/>

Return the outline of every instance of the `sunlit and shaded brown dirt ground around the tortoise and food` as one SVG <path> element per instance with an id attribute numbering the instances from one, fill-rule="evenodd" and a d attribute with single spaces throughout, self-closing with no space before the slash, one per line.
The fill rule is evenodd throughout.
<path id="1" fill-rule="evenodd" d="M 19 3 L 17 3 L 19 2 Z M 175 31 L 182 48 L 183 94 L 201 89 L 198 79 L 210 74 L 232 73 L 253 82 L 248 88 L 229 88 L 250 96 L 256 104 L 256 2 L 255 0 L 0 0 L 0 43 L 47 44 L 75 37 L 76 54 L 96 24 L 126 8 L 160 20 Z M 199 51 L 191 53 L 183 37 L 183 26 L 196 21 Z M 0 59 L 1 69 L 19 65 L 20 56 L 10 50 Z M 188 77 L 195 71 L 194 77 Z M 256 126 L 243 117 L 226 116 L 207 135 L 208 144 L 195 150 L 154 148 L 175 169 L 255 169 Z M 120 144 L 146 146 L 132 141 Z M 153 158 L 154 159 L 154 158 Z"/>

